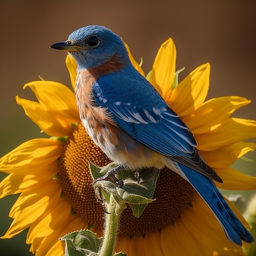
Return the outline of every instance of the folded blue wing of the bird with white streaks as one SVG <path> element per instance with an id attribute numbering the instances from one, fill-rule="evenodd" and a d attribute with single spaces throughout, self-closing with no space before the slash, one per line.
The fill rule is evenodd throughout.
<path id="1" fill-rule="evenodd" d="M 127 74 L 130 74 L 128 76 Z M 214 180 L 217 173 L 202 160 L 197 143 L 182 119 L 133 67 L 101 76 L 92 92 L 98 106 L 141 144 Z"/>

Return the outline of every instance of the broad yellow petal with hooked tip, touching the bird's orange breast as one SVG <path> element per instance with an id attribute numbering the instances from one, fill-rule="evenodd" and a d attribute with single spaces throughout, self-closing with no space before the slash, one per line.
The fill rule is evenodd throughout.
<path id="1" fill-rule="evenodd" d="M 51 112 L 58 119 L 66 122 L 79 122 L 74 93 L 62 83 L 54 81 L 33 81 L 26 83 L 24 89 L 29 87 L 42 107 Z"/>

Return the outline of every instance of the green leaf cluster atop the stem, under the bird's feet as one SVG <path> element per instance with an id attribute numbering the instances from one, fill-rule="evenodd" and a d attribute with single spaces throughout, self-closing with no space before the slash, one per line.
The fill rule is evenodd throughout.
<path id="1" fill-rule="evenodd" d="M 99 168 L 90 163 L 93 179 L 102 177 L 108 170 L 116 166 L 117 164 L 110 163 L 103 168 Z M 116 177 L 124 182 L 124 186 L 119 188 L 116 184 L 108 180 L 102 180 L 94 184 L 94 189 L 98 192 L 100 189 L 107 203 L 109 202 L 109 194 L 113 195 L 119 206 L 119 209 L 116 209 L 116 213 L 126 208 L 125 204 L 128 203 L 132 209 L 133 215 L 139 217 L 147 204 L 154 201 L 152 198 L 155 192 L 155 184 L 158 175 L 159 170 L 157 168 L 144 169 L 140 172 L 140 182 L 138 184 L 134 177 L 134 172 L 122 170 L 116 174 Z"/>

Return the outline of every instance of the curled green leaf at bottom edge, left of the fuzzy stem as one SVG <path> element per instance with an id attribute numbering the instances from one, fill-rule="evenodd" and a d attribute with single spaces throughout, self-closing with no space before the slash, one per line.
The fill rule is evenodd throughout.
<path id="1" fill-rule="evenodd" d="M 74 231 L 59 238 L 65 242 L 65 256 L 97 256 L 102 238 L 90 230 Z"/>

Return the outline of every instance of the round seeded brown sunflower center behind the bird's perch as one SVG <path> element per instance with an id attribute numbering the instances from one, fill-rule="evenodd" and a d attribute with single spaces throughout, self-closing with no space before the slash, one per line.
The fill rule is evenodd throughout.
<path id="1" fill-rule="evenodd" d="M 89 162 L 105 166 L 111 161 L 93 143 L 82 124 L 74 129 L 65 144 L 61 157 L 60 180 L 65 197 L 74 211 L 97 229 L 103 227 L 103 211 L 96 201 L 92 187 Z M 145 235 L 161 230 L 165 225 L 175 222 L 182 211 L 191 206 L 193 187 L 180 175 L 164 168 L 160 171 L 154 197 L 156 200 L 146 207 L 139 218 L 132 215 L 130 207 L 125 209 L 120 218 L 121 235 Z"/>

